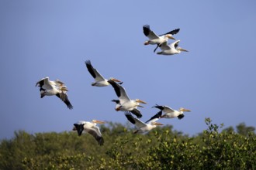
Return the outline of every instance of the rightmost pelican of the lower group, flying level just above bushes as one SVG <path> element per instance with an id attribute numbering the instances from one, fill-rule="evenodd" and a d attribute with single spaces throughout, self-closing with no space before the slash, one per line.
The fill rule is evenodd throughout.
<path id="1" fill-rule="evenodd" d="M 182 107 L 179 110 L 171 109 L 168 106 L 156 105 L 154 107 L 164 111 L 164 115 L 162 115 L 161 118 L 174 118 L 174 117 L 178 117 L 178 119 L 182 119 L 184 117 L 184 112 L 191 111 L 189 109 L 185 109 L 185 108 L 182 108 Z"/>

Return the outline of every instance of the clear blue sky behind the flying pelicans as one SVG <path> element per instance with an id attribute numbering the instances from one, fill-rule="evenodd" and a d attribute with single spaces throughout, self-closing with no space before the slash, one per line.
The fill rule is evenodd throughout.
<path id="1" fill-rule="evenodd" d="M 130 98 L 192 110 L 161 119 L 198 134 L 210 117 L 225 127 L 255 127 L 256 2 L 248 1 L 13 1 L 0 2 L 0 138 L 14 131 L 71 131 L 76 121 L 126 124 L 114 110 L 112 87 L 92 87 L 85 60 L 103 76 L 123 80 Z M 144 46 L 142 27 L 175 39 L 189 53 L 158 56 Z M 169 41 L 171 42 L 171 40 Z M 158 49 L 159 50 L 159 49 Z M 74 109 L 57 97 L 40 99 L 41 78 L 66 83 Z"/>

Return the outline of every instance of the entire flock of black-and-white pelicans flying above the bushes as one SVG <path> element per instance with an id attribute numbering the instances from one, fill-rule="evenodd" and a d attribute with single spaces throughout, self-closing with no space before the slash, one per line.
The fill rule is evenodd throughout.
<path id="1" fill-rule="evenodd" d="M 182 51 L 188 52 L 186 49 L 182 49 L 178 46 L 178 42 L 180 42 L 180 40 L 175 40 L 175 42 L 171 42 L 170 44 L 168 44 L 168 39 L 175 39 L 173 35 L 177 34 L 179 32 L 179 29 L 172 30 L 171 32 L 167 32 L 160 36 L 157 36 L 157 34 L 154 33 L 148 25 L 143 26 L 143 31 L 144 35 L 148 38 L 148 40 L 144 42 L 144 45 L 157 45 L 157 47 L 154 49 L 154 53 L 158 47 L 160 47 L 161 52 L 157 52 L 157 54 L 160 55 L 173 55 L 181 53 Z M 153 117 L 150 117 L 148 121 L 140 121 L 142 114 L 140 110 L 137 109 L 137 107 L 143 107 L 140 104 L 147 103 L 144 100 L 140 99 L 131 100 L 126 93 L 125 88 L 122 86 L 122 81 L 115 78 L 105 79 L 99 73 L 99 71 L 92 66 L 90 60 L 85 61 L 85 65 L 88 69 L 88 72 L 95 80 L 95 82 L 92 83 L 93 87 L 106 87 L 109 85 L 113 87 L 114 91 L 116 92 L 116 96 L 118 97 L 118 100 L 112 100 L 112 102 L 116 103 L 115 109 L 116 111 L 123 111 L 127 120 L 137 127 L 137 130 L 134 131 L 134 133 L 147 133 L 151 129 L 156 128 L 159 125 L 163 125 L 157 122 L 157 120 L 159 120 L 160 118 L 178 117 L 178 119 L 182 119 L 184 117 L 184 112 L 191 111 L 182 107 L 179 110 L 174 110 L 168 106 L 156 105 L 154 107 L 159 109 L 160 111 L 158 111 L 157 114 L 154 114 Z M 57 96 L 64 102 L 64 104 L 67 105 L 67 108 L 73 108 L 70 100 L 68 100 L 67 97 L 67 87 L 61 80 L 49 80 L 49 77 L 45 77 L 39 80 L 36 83 L 36 86 L 40 87 L 41 98 L 45 96 Z M 132 114 L 134 114 L 136 117 L 134 117 Z M 104 121 L 97 120 L 78 121 L 77 123 L 74 123 L 73 131 L 77 131 L 78 136 L 81 136 L 82 132 L 86 131 L 88 132 L 88 134 L 92 134 L 95 140 L 98 141 L 99 145 L 103 145 L 104 139 L 102 138 L 102 134 L 97 124 L 105 123 L 106 122 Z"/>

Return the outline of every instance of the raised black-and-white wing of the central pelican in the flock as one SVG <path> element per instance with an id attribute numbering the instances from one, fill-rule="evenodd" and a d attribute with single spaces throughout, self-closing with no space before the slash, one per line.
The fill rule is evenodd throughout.
<path id="1" fill-rule="evenodd" d="M 129 101 L 130 98 L 127 96 L 126 94 L 126 90 L 119 85 L 118 83 L 116 83 L 113 80 L 108 80 L 108 82 L 112 85 L 112 87 L 114 88 L 115 92 L 116 92 L 116 96 L 119 97 L 120 100 L 120 104 L 125 103 L 126 101 Z"/>

